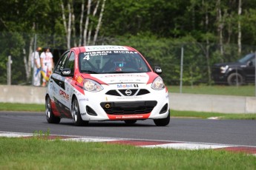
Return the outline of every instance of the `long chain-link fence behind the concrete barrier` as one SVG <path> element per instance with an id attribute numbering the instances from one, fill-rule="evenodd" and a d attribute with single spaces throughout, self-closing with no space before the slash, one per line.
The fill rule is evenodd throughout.
<path id="1" fill-rule="evenodd" d="M 53 61 L 56 63 L 62 52 L 66 49 L 66 37 L 57 35 L 39 35 L 27 33 L 0 33 L 0 84 L 30 85 L 32 71 L 30 68 L 30 53 L 36 47 L 50 47 L 53 53 Z M 71 39 L 73 46 L 76 46 L 77 38 Z M 238 54 L 237 44 L 226 44 L 221 47 L 219 44 L 204 44 L 197 42 L 174 42 L 171 40 L 144 40 L 138 39 L 116 39 L 100 38 L 96 44 L 121 44 L 136 48 L 147 58 L 151 67 L 160 66 L 163 69 L 165 84 L 180 86 L 215 85 L 226 84 L 220 80 L 213 79 L 213 72 L 216 69 L 214 64 L 234 62 L 244 55 L 255 53 L 255 46 L 243 45 L 242 53 Z M 256 58 L 256 56 L 255 56 Z M 243 75 L 243 85 L 255 84 L 255 58 L 252 60 L 251 73 L 249 78 Z M 244 64 L 242 67 L 247 67 Z M 220 69 L 220 68 L 219 68 Z M 230 68 L 229 68 L 230 69 Z M 234 69 L 234 68 L 233 68 Z M 240 72 L 240 69 L 234 69 Z M 29 73 L 29 75 L 27 75 Z M 237 75 L 236 75 L 237 76 Z M 240 85 L 239 76 L 233 78 L 234 85 Z M 250 81 L 248 81 L 250 80 Z M 256 86 L 255 86 L 256 92 Z"/>

